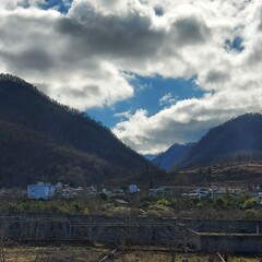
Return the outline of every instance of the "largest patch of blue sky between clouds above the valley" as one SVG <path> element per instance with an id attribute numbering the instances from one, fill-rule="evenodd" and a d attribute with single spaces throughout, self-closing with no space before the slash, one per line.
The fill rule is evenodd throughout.
<path id="1" fill-rule="evenodd" d="M 130 82 L 134 86 L 133 97 L 116 103 L 114 106 L 90 108 L 87 114 L 97 121 L 100 121 L 104 126 L 114 128 L 119 120 L 124 119 L 124 117 L 118 117 L 117 114 L 134 114 L 138 109 L 143 108 L 148 112 L 150 117 L 179 100 L 193 97 L 199 98 L 204 94 L 204 92 L 195 85 L 194 78 L 186 80 L 135 75 L 134 80 Z"/>

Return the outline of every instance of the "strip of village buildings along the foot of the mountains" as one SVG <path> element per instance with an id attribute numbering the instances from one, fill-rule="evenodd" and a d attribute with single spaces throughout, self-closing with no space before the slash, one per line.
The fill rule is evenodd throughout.
<path id="1" fill-rule="evenodd" d="M 26 189 L 12 188 L 0 189 L 0 198 L 19 199 L 27 196 L 28 199 L 49 200 L 52 198 L 74 199 L 82 196 L 106 195 L 107 198 L 121 198 L 127 195 L 140 195 L 141 198 L 183 198 L 191 200 L 217 200 L 223 195 L 249 195 L 262 202 L 262 187 L 258 184 L 239 186 L 239 184 L 211 184 L 210 187 L 176 187 L 160 186 L 156 188 L 139 188 L 138 184 L 129 184 L 123 187 L 78 187 L 73 188 L 70 184 L 57 182 L 38 181 L 34 184 L 28 184 Z"/>

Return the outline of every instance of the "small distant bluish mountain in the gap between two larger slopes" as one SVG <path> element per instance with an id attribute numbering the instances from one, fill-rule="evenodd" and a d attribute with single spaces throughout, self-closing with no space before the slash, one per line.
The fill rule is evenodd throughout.
<path id="1" fill-rule="evenodd" d="M 176 168 L 182 157 L 192 148 L 193 144 L 174 144 L 166 152 L 156 156 L 152 163 L 166 171 L 170 171 Z"/>

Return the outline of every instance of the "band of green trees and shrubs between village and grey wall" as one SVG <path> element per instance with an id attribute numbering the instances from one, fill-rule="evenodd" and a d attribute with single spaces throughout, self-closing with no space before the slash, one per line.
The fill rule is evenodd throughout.
<path id="1" fill-rule="evenodd" d="M 193 218 L 240 218 L 262 219 L 262 211 L 252 195 L 224 194 L 218 199 L 187 198 L 141 198 L 129 195 L 107 198 L 106 195 L 79 199 L 52 199 L 49 201 L 29 199 L 2 199 L 0 213 L 66 213 L 106 216 L 153 216 Z"/>

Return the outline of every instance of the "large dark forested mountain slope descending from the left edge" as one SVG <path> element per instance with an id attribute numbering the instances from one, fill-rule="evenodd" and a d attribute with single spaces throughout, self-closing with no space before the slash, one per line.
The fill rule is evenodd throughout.
<path id="1" fill-rule="evenodd" d="M 0 74 L 0 187 L 37 180 L 84 186 L 139 176 L 148 166 L 84 112 Z"/>

